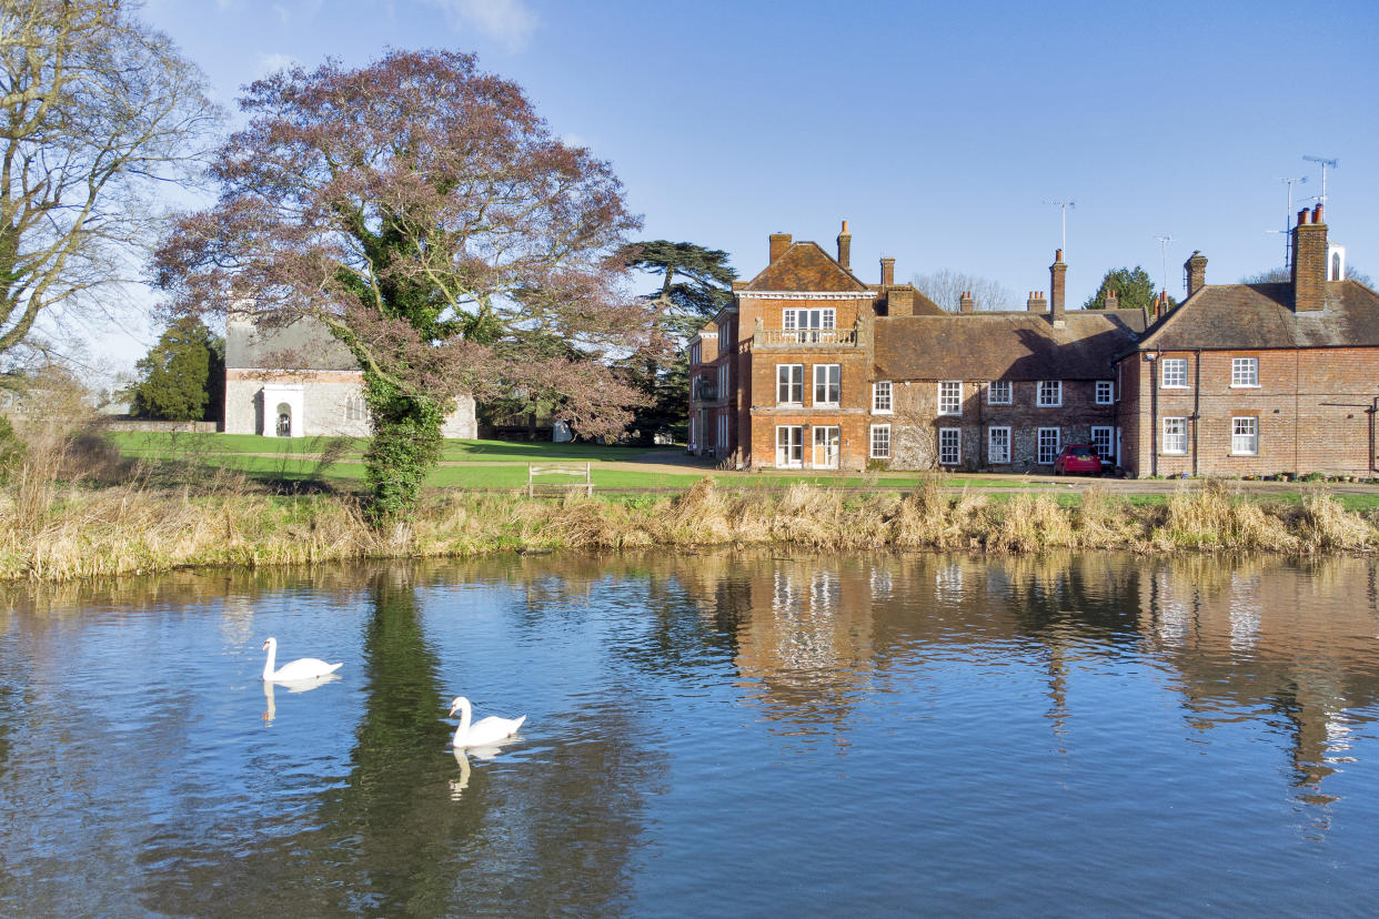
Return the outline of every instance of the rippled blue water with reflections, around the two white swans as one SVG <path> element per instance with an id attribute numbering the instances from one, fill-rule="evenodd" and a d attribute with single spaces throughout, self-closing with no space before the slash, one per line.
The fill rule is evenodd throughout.
<path id="1" fill-rule="evenodd" d="M 1369 915 L 1367 559 L 688 555 L 0 605 L 3 915 Z M 259 679 L 343 660 L 310 692 Z M 445 719 L 528 716 L 491 759 Z"/>

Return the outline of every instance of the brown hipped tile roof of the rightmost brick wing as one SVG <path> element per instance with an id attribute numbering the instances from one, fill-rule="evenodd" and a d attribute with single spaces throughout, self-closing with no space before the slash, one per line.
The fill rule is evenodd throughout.
<path id="1" fill-rule="evenodd" d="M 1328 281 L 1325 307 L 1294 313 L 1292 284 L 1214 284 L 1160 318 L 1138 350 L 1379 346 L 1379 293 Z"/>

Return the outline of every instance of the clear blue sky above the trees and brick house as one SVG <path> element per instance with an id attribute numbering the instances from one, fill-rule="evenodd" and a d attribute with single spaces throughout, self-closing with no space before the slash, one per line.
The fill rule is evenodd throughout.
<path id="1" fill-rule="evenodd" d="M 768 234 L 833 252 L 847 219 L 863 281 L 891 256 L 896 280 L 960 270 L 1023 304 L 1066 214 L 1070 306 L 1136 265 L 1180 298 L 1194 249 L 1208 284 L 1282 263 L 1281 179 L 1307 179 L 1294 211 L 1321 194 L 1306 156 L 1339 161 L 1329 238 L 1379 278 L 1373 0 L 146 0 L 143 17 L 228 109 L 292 63 L 476 52 L 612 164 L 643 238 L 725 249 L 745 278 Z M 156 333 L 131 322 L 99 347 L 132 364 Z"/>

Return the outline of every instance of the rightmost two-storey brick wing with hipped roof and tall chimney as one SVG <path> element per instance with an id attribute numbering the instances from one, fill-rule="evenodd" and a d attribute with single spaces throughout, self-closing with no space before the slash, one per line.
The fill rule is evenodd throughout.
<path id="1" fill-rule="evenodd" d="M 1376 468 L 1379 295 L 1338 280 L 1320 205 L 1292 233 L 1280 284 L 1207 284 L 1193 254 L 1187 299 L 1117 361 L 1128 473 Z"/>

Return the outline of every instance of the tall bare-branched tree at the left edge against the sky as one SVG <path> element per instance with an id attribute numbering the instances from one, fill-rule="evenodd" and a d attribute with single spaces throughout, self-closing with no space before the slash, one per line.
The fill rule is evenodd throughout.
<path id="1" fill-rule="evenodd" d="M 161 180 L 214 125 L 201 72 L 119 0 L 0 0 L 0 355 L 108 303 L 156 241 Z"/>

